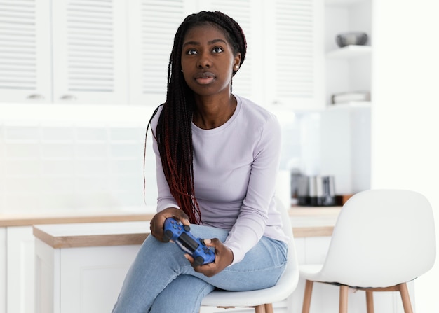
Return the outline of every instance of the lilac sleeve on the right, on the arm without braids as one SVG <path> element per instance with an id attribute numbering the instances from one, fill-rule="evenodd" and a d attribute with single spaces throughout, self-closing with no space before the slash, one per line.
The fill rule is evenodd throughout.
<path id="1" fill-rule="evenodd" d="M 247 194 L 240 214 L 224 245 L 234 253 L 231 265 L 240 262 L 259 242 L 266 228 L 268 211 L 276 188 L 281 154 L 281 126 L 276 116 L 266 121 L 256 145 Z"/>

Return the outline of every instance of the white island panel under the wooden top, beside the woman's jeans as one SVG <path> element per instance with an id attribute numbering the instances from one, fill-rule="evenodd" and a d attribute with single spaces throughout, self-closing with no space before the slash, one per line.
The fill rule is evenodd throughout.
<path id="1" fill-rule="evenodd" d="M 60 249 L 60 312 L 112 312 L 139 249 L 140 245 Z"/>

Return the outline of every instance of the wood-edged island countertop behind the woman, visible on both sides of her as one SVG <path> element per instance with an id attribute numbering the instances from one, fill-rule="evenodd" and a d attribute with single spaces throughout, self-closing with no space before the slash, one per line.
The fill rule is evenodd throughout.
<path id="1" fill-rule="evenodd" d="M 290 216 L 295 237 L 332 235 L 340 209 L 293 207 Z M 145 220 L 106 222 L 34 225 L 34 235 L 55 249 L 142 244 L 149 235 L 149 222 Z"/>

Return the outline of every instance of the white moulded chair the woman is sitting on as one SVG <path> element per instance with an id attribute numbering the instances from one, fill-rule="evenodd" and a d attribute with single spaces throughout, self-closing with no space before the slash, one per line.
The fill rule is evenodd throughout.
<path id="1" fill-rule="evenodd" d="M 201 302 L 205 307 L 254 307 L 255 313 L 273 313 L 273 302 L 288 298 L 295 291 L 299 281 L 299 265 L 295 241 L 292 235 L 292 226 L 287 209 L 281 200 L 276 199 L 278 211 L 281 211 L 283 231 L 290 237 L 288 242 L 288 264 L 278 283 L 266 289 L 255 291 L 212 291 Z"/>

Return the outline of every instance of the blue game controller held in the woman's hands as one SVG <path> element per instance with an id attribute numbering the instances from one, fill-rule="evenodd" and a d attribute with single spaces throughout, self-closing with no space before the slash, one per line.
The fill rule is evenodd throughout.
<path id="1" fill-rule="evenodd" d="M 183 225 L 174 218 L 166 218 L 163 241 L 175 242 L 182 251 L 194 258 L 195 266 L 212 263 L 215 260 L 215 253 L 205 245 L 203 239 L 195 238 L 190 230 L 188 225 Z"/>

